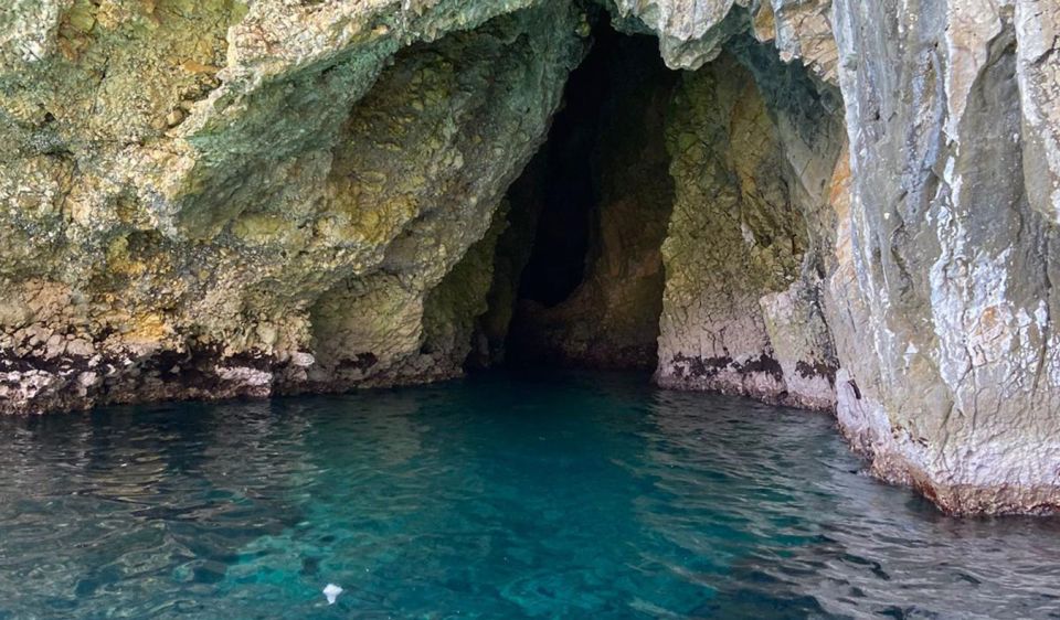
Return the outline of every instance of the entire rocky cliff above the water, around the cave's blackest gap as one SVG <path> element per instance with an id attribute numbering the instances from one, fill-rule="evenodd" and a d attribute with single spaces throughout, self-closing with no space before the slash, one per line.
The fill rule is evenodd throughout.
<path id="1" fill-rule="evenodd" d="M 612 99 L 551 348 L 650 348 L 661 307 L 662 385 L 835 409 L 950 511 L 1060 505 L 1047 0 L 15 0 L 0 410 L 496 361 L 603 12 L 685 71 Z"/>

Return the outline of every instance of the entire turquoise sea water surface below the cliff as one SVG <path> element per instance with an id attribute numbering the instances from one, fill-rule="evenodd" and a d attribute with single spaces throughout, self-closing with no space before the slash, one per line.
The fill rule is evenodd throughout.
<path id="1" fill-rule="evenodd" d="M 644 383 L 2 419 L 0 619 L 1060 618 L 1057 520 L 947 519 L 826 416 Z"/>

